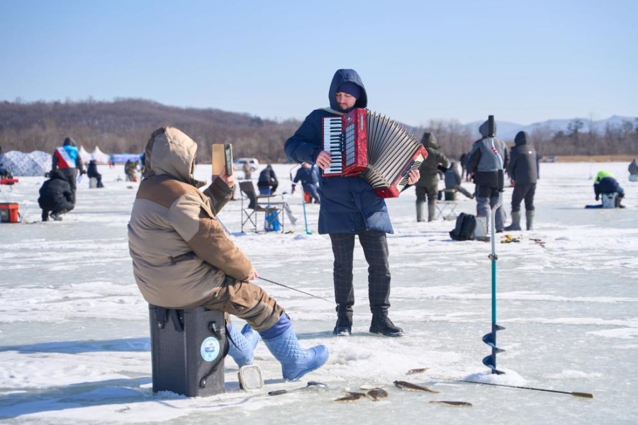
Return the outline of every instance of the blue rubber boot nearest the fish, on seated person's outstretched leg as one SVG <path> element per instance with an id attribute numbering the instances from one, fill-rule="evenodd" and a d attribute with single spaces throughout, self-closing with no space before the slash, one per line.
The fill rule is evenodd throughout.
<path id="1" fill-rule="evenodd" d="M 308 350 L 301 348 L 286 314 L 281 314 L 279 322 L 259 334 L 272 355 L 281 363 L 281 373 L 285 380 L 298 380 L 328 361 L 326 346 L 319 345 Z"/>

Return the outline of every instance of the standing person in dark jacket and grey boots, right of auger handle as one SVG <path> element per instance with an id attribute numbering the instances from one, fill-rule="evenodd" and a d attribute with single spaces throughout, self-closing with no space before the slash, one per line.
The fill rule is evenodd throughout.
<path id="1" fill-rule="evenodd" d="M 505 230 L 520 230 L 520 203 L 525 200 L 525 225 L 527 230 L 534 227 L 534 195 L 538 181 L 536 151 L 527 141 L 530 136 L 520 131 L 514 138 L 515 146 L 510 153 L 507 171 L 514 184 L 512 192 L 512 224 Z"/>

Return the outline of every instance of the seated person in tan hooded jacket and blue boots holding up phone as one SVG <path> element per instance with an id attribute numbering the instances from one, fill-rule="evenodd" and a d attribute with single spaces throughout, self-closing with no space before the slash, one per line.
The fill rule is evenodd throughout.
<path id="1" fill-rule="evenodd" d="M 194 179 L 197 145 L 177 128 L 159 128 L 145 149 L 147 178 L 135 196 L 128 246 L 135 282 L 145 300 L 171 309 L 223 310 L 248 324 L 239 331 L 227 317 L 229 353 L 252 363 L 259 336 L 281 363 L 285 380 L 298 380 L 328 360 L 323 345 L 301 348 L 288 314 L 259 285 L 259 277 L 217 215 L 230 200 L 235 177 Z"/>

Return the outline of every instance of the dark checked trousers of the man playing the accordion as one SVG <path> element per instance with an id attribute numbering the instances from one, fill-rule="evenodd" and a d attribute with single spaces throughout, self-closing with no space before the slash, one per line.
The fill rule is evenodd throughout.
<path id="1" fill-rule="evenodd" d="M 333 277 L 337 314 L 352 314 L 354 287 L 352 285 L 352 261 L 354 258 L 354 233 L 331 233 L 332 253 L 335 255 Z M 379 230 L 362 230 L 359 243 L 368 262 L 368 297 L 370 311 L 387 312 L 390 307 L 390 265 L 388 241 Z"/>

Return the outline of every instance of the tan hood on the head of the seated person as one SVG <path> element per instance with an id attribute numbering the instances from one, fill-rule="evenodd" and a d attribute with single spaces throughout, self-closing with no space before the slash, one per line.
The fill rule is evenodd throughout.
<path id="1" fill-rule="evenodd" d="M 201 188 L 206 181 L 194 178 L 197 144 L 177 128 L 155 130 L 146 144 L 147 177 L 167 174 L 174 179 Z"/>

